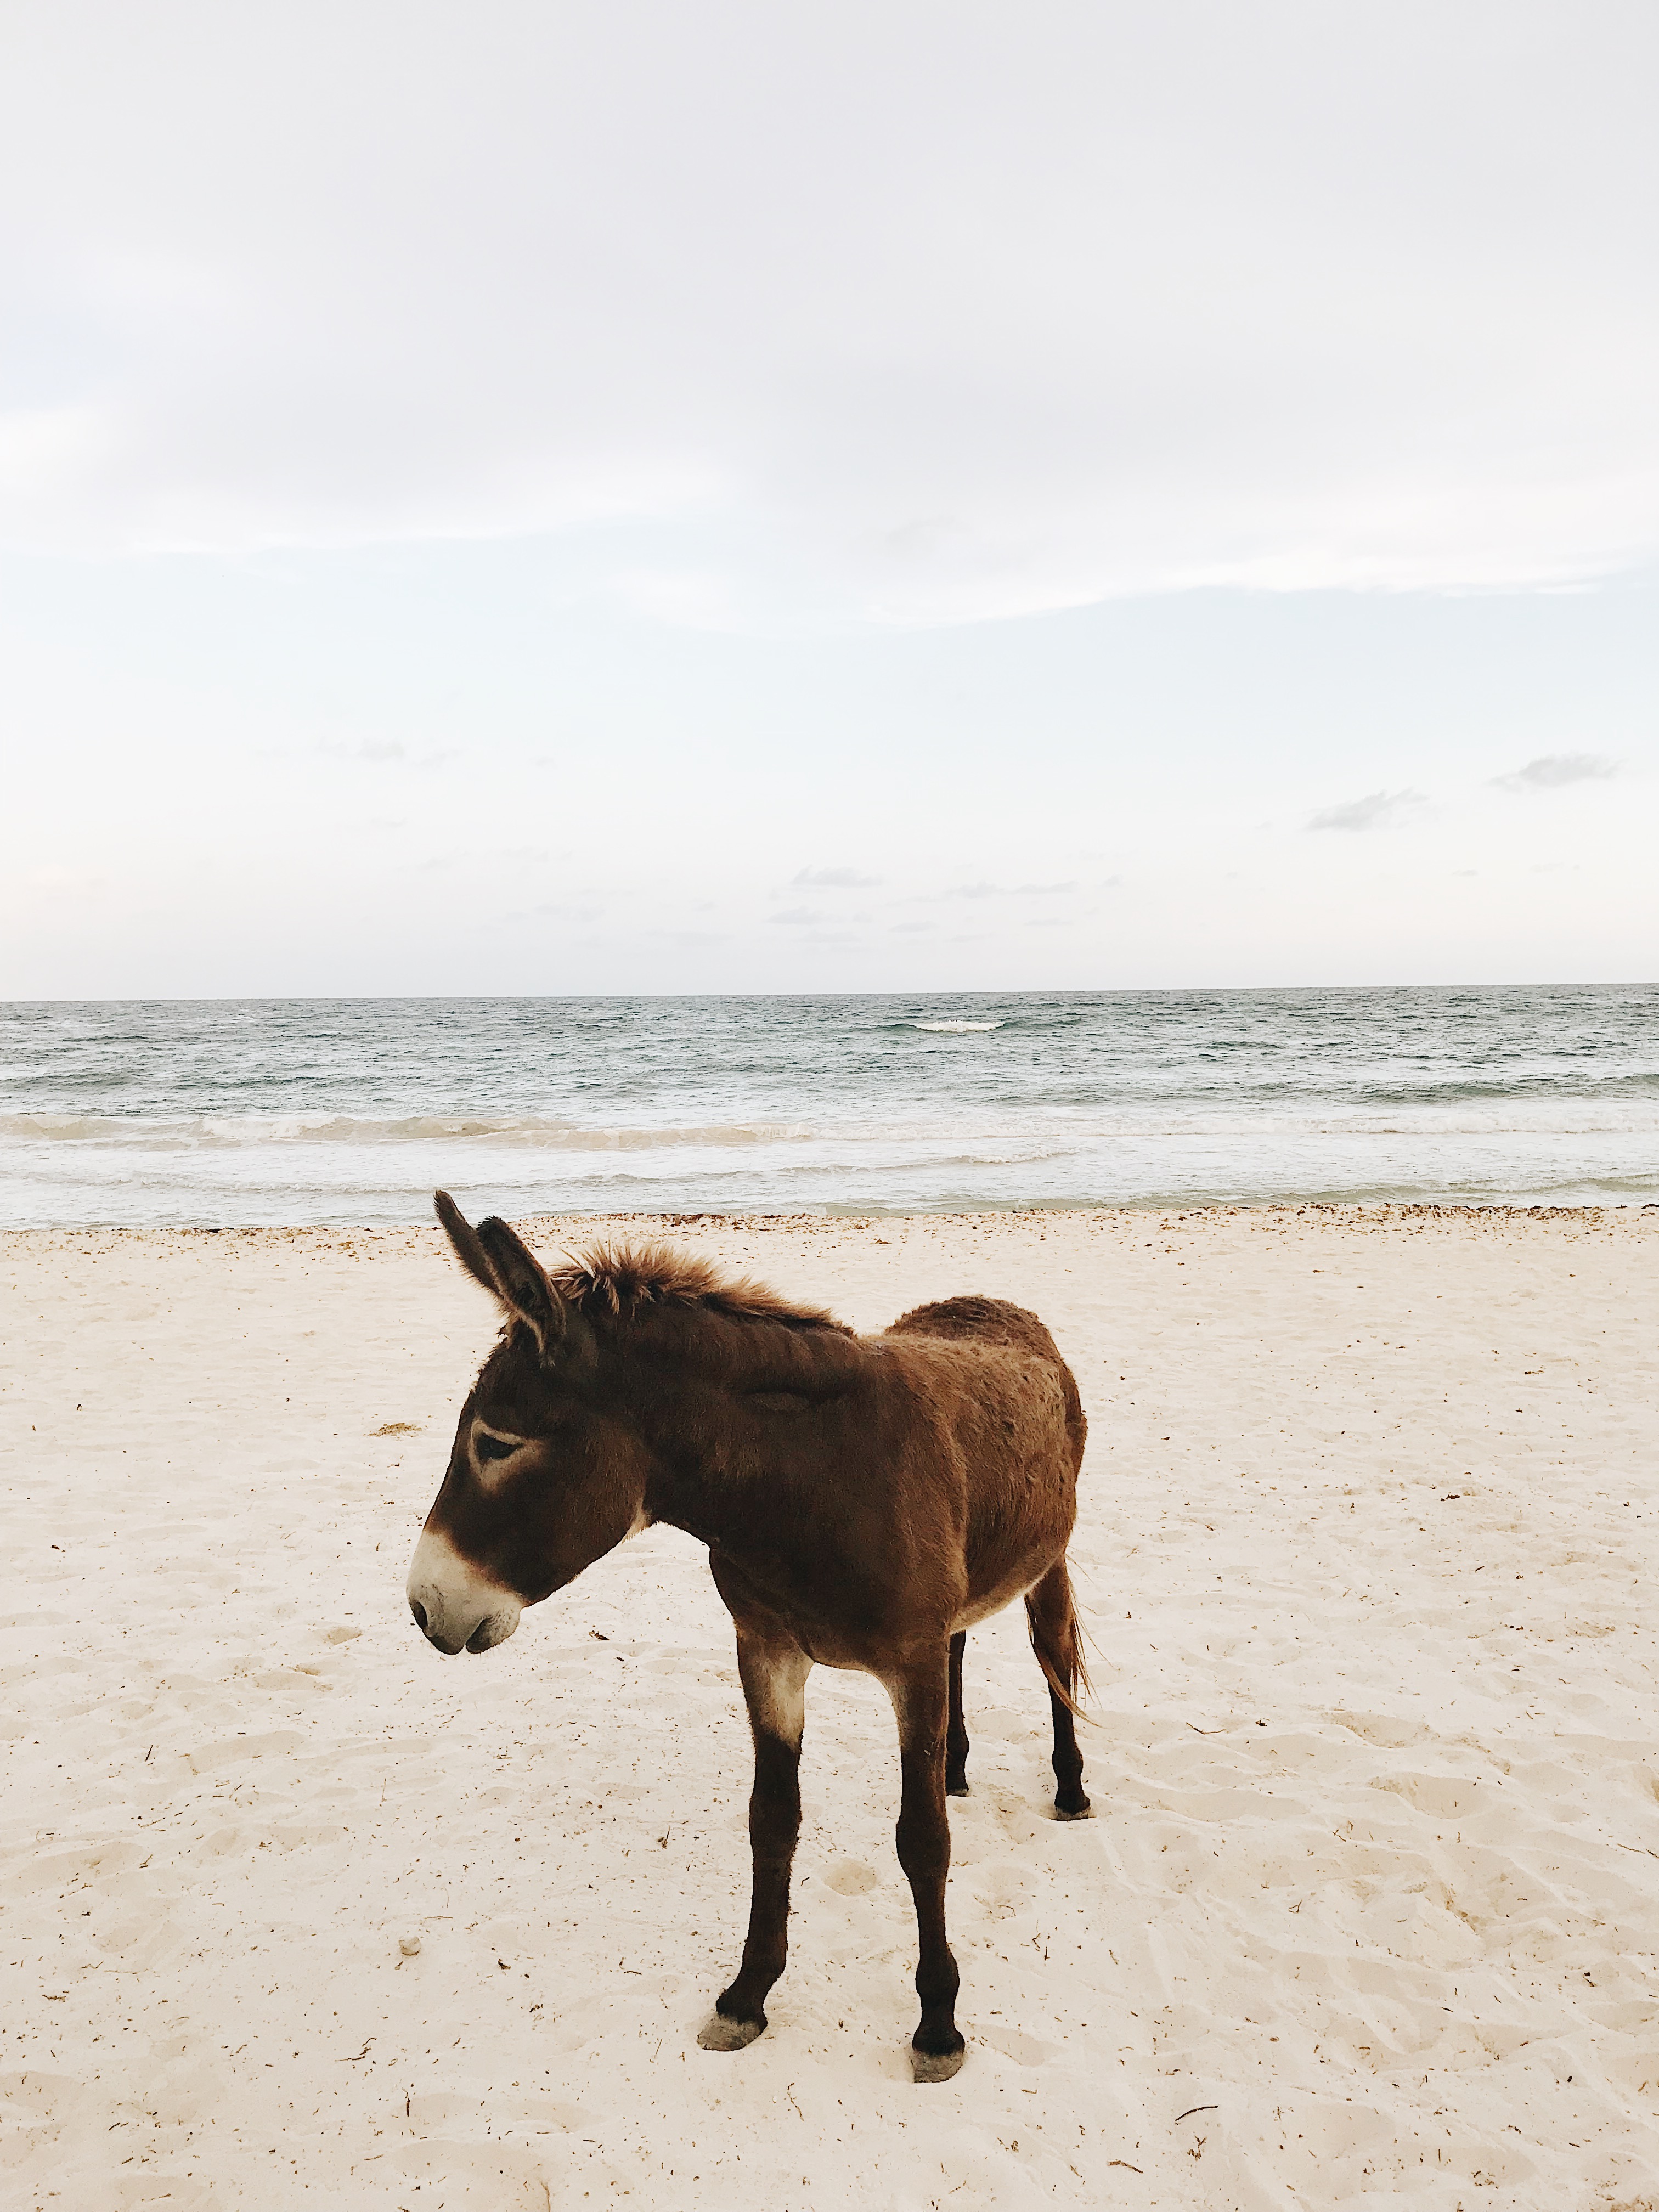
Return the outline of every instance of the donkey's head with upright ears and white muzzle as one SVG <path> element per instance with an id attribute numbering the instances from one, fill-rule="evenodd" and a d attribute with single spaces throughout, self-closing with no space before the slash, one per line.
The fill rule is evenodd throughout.
<path id="1" fill-rule="evenodd" d="M 504 1221 L 438 1219 L 507 1329 L 460 1409 L 449 1473 L 409 1564 L 409 1610 L 440 1652 L 487 1652 L 524 1606 L 644 1524 L 648 1455 L 599 1402 L 593 1327 Z"/>

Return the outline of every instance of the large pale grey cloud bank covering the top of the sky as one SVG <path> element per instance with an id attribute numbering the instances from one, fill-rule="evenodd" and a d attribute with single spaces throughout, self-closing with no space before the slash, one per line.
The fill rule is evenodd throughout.
<path id="1" fill-rule="evenodd" d="M 1650 555 L 1644 13 L 1201 15 L 29 11 L 7 540 L 546 538 L 701 628 Z"/>

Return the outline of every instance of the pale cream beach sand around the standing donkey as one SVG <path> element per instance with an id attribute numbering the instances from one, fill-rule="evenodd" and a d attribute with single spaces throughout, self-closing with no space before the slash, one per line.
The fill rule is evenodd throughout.
<path id="1" fill-rule="evenodd" d="M 679 1234 L 860 1325 L 1018 1298 L 1077 1369 L 1097 1818 L 1044 1818 L 1004 1617 L 964 2070 L 909 2081 L 874 1683 L 812 1677 L 792 1962 L 719 2057 L 748 1734 L 701 1551 L 484 1657 L 416 1635 L 493 1327 L 436 1230 L 11 1234 L 7 2205 L 1659 2205 L 1659 1214 Z"/>

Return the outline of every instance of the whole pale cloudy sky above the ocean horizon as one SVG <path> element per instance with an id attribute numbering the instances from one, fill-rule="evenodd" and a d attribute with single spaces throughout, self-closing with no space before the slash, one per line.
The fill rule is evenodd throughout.
<path id="1" fill-rule="evenodd" d="M 1659 975 L 1648 0 L 0 53 L 0 995 Z"/>

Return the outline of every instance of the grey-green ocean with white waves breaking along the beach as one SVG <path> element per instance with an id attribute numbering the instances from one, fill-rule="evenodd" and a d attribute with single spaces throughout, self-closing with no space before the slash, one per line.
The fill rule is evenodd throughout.
<path id="1" fill-rule="evenodd" d="M 0 1004 L 0 1223 L 1659 1201 L 1659 987 Z"/>

